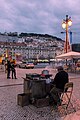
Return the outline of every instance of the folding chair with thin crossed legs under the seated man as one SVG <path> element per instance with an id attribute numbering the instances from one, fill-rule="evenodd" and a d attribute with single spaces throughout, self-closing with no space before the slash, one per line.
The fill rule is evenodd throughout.
<path id="1" fill-rule="evenodd" d="M 73 107 L 73 104 L 71 103 L 72 92 L 73 92 L 73 82 L 66 83 L 64 87 L 64 91 L 61 93 L 60 101 L 58 104 L 58 106 L 59 105 L 62 106 L 66 114 L 69 104 L 71 105 L 72 109 L 76 112 L 75 108 Z"/>

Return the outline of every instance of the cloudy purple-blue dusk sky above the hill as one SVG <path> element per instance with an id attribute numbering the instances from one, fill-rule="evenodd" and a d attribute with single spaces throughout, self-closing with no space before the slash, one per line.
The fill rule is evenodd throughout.
<path id="1" fill-rule="evenodd" d="M 72 19 L 72 42 L 80 43 L 80 0 L 0 0 L 0 32 L 61 34 L 62 20 Z"/>

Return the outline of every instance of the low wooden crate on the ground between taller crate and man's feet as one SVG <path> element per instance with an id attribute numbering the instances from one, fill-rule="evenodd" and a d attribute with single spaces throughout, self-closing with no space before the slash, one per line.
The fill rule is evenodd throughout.
<path id="1" fill-rule="evenodd" d="M 49 105 L 49 98 L 36 99 L 34 106 L 36 107 L 46 107 Z"/>

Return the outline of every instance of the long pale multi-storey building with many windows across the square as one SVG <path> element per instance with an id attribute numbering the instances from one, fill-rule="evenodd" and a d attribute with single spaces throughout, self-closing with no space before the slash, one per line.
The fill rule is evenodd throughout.
<path id="1" fill-rule="evenodd" d="M 20 55 L 23 59 L 33 59 L 43 56 L 44 58 L 55 58 L 56 54 L 62 52 L 58 47 L 41 47 L 41 46 L 29 46 L 25 43 L 12 43 L 12 42 L 0 42 L 0 50 L 2 54 L 5 54 L 6 49 L 9 55 Z"/>

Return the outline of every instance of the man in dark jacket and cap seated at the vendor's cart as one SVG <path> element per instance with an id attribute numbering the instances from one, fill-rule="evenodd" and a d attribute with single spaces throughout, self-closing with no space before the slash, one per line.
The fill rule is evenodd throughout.
<path id="1" fill-rule="evenodd" d="M 69 82 L 68 73 L 63 70 L 62 66 L 59 66 L 58 73 L 55 75 L 55 78 L 52 82 L 54 87 L 51 89 L 49 93 L 50 103 L 53 103 L 55 105 L 59 103 L 60 101 L 59 93 L 61 93 L 64 90 L 64 86 L 68 82 Z"/>

